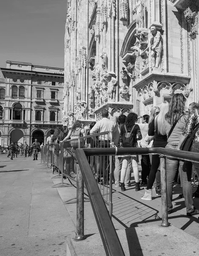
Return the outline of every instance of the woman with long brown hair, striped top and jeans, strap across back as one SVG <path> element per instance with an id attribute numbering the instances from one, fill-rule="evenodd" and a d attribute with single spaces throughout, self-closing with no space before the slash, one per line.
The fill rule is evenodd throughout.
<path id="1" fill-rule="evenodd" d="M 176 93 L 173 95 L 169 104 L 168 113 L 165 116 L 165 127 L 168 135 L 168 144 L 165 148 L 176 149 L 178 147 L 179 139 L 185 127 L 188 116 L 185 115 L 185 101 L 186 98 L 182 93 Z M 192 199 L 192 186 L 191 186 L 191 168 L 186 172 L 183 168 L 183 164 L 188 164 L 187 161 L 167 157 L 166 158 L 166 173 L 167 173 L 167 207 L 168 214 L 172 212 L 172 193 L 173 183 L 176 173 L 179 170 L 179 175 L 182 181 L 183 195 L 185 197 L 185 206 L 187 208 L 187 214 L 193 212 L 193 199 Z"/>

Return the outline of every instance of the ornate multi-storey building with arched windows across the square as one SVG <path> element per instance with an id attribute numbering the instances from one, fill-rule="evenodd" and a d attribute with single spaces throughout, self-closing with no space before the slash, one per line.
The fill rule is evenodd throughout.
<path id="1" fill-rule="evenodd" d="M 0 146 L 34 139 L 45 144 L 62 126 L 64 70 L 6 61 L 0 79 Z"/>

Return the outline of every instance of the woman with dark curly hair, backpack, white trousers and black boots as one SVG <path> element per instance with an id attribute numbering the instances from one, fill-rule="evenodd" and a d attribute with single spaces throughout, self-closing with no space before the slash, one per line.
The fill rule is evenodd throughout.
<path id="1" fill-rule="evenodd" d="M 123 143 L 122 141 L 122 136 L 123 134 L 126 133 L 127 131 L 131 131 L 131 134 L 134 137 L 134 143 L 136 143 L 136 140 L 142 140 L 142 134 L 139 128 L 139 125 L 135 124 L 137 122 L 137 114 L 136 113 L 129 113 L 126 121 L 125 121 L 125 125 L 122 125 L 121 127 L 121 131 L 120 131 L 120 142 Z M 126 129 L 125 129 L 126 128 Z M 137 138 L 137 139 L 136 139 Z M 134 145 L 132 145 L 132 147 L 134 147 Z M 138 164 L 137 164 L 137 156 L 124 156 L 122 157 L 122 169 L 121 169 L 121 173 L 120 173 L 120 186 L 121 186 L 121 190 L 125 191 L 125 185 L 124 185 L 124 181 L 125 181 L 125 176 L 126 176 L 126 170 L 128 167 L 128 162 L 129 159 L 131 157 L 131 166 L 133 168 L 133 172 L 134 172 L 134 179 L 136 182 L 136 187 L 135 187 L 135 191 L 139 191 L 140 187 L 139 187 L 139 170 L 138 170 Z"/>

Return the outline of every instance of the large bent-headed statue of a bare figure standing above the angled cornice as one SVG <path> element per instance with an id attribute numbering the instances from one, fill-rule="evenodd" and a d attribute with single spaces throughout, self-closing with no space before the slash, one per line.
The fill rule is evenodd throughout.
<path id="1" fill-rule="evenodd" d="M 161 62 L 161 52 L 162 52 L 162 35 L 157 31 L 155 26 L 152 26 L 151 29 L 151 60 L 153 67 L 158 68 Z"/>

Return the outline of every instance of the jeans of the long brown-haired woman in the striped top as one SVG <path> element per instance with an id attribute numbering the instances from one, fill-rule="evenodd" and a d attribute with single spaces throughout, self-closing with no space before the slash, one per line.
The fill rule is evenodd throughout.
<path id="1" fill-rule="evenodd" d="M 178 143 L 167 144 L 165 148 L 176 149 Z M 192 185 L 191 185 L 191 168 L 186 168 L 185 164 L 187 161 L 182 161 L 175 158 L 166 157 L 166 174 L 167 174 L 167 209 L 170 212 L 173 208 L 172 205 L 172 192 L 173 192 L 173 183 L 175 180 L 176 172 L 180 166 L 181 179 L 182 179 L 182 189 L 185 197 L 185 206 L 187 212 L 193 212 L 193 198 L 192 198 Z"/>

